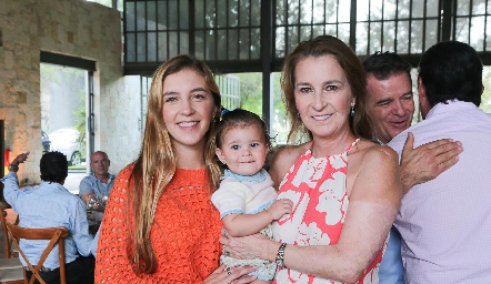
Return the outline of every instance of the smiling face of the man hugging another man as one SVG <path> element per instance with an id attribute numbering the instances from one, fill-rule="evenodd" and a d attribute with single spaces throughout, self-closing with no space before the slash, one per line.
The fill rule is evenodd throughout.
<path id="1" fill-rule="evenodd" d="M 379 80 L 367 78 L 368 114 L 372 119 L 375 136 L 389 143 L 395 135 L 411 126 L 414 113 L 411 80 L 405 72 Z"/>

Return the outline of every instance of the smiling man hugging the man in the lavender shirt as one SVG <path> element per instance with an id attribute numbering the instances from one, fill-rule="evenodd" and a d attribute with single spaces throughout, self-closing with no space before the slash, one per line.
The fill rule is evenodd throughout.
<path id="1" fill-rule="evenodd" d="M 393 52 L 377 52 L 363 61 L 367 72 L 368 114 L 374 126 L 374 140 L 389 143 L 411 126 L 414 100 L 411 64 Z M 401 161 L 403 194 L 418 183 L 434 179 L 452 166 L 460 143 L 442 139 L 413 149 L 413 138 L 407 141 Z M 404 284 L 401 258 L 401 235 L 392 226 L 389 244 L 379 267 L 380 284 Z"/>

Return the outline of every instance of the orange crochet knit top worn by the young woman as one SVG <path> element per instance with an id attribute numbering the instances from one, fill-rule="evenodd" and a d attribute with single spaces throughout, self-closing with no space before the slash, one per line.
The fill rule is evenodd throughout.
<path id="1" fill-rule="evenodd" d="M 129 261 L 127 192 L 133 165 L 118 175 L 100 232 L 96 283 L 202 283 L 218 266 L 221 221 L 210 201 L 206 169 L 178 169 L 159 200 L 150 242 L 158 262 L 153 274 L 137 276 Z M 130 202 L 131 204 L 131 202 Z"/>

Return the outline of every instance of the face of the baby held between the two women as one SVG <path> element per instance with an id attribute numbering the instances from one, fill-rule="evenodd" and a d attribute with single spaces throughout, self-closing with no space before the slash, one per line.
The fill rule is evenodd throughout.
<path id="1" fill-rule="evenodd" d="M 268 151 L 264 134 L 254 124 L 228 130 L 222 136 L 221 149 L 216 150 L 218 159 L 230 171 L 241 175 L 261 171 Z"/>

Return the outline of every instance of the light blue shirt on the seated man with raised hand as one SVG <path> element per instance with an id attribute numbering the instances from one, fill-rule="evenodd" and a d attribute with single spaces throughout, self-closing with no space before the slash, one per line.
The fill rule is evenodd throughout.
<path id="1" fill-rule="evenodd" d="M 73 262 L 78 254 L 88 256 L 92 236 L 89 235 L 86 205 L 59 183 L 41 182 L 38 187 L 20 190 L 17 174 L 10 172 L 1 180 L 6 201 L 19 214 L 19 226 L 30 229 L 64 226 L 69 235 L 64 239 L 64 261 Z M 49 241 L 21 240 L 20 248 L 32 264 L 37 264 Z M 22 265 L 27 266 L 22 257 Z M 43 266 L 58 268 L 58 245 L 49 254 Z"/>

